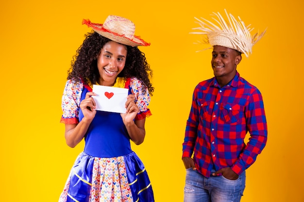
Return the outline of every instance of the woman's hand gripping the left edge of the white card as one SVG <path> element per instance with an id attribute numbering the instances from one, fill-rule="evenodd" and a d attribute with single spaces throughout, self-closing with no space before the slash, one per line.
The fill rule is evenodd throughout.
<path id="1" fill-rule="evenodd" d="M 92 121 L 96 114 L 96 103 L 93 99 L 93 95 L 97 95 L 93 92 L 88 92 L 85 94 L 84 100 L 80 103 L 80 109 L 84 114 L 84 118 Z"/>

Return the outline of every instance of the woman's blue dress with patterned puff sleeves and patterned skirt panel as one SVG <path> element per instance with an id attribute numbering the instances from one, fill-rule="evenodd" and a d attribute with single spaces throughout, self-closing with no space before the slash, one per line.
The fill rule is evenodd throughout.
<path id="1" fill-rule="evenodd" d="M 150 115 L 147 108 L 150 95 L 141 82 L 131 78 L 125 87 L 136 96 L 141 111 L 136 118 Z M 90 86 L 81 81 L 67 81 L 63 123 L 82 120 L 79 104 L 89 91 L 92 91 Z M 147 171 L 131 149 L 130 137 L 119 113 L 97 111 L 84 140 L 84 151 L 70 171 L 59 202 L 154 202 Z"/>

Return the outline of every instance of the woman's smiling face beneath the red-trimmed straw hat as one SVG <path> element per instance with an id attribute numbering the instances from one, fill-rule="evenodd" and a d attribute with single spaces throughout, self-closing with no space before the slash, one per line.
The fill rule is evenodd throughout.
<path id="1" fill-rule="evenodd" d="M 127 58 L 127 47 L 114 41 L 107 42 L 99 53 L 97 67 L 99 84 L 113 86 L 118 74 L 123 70 Z"/>

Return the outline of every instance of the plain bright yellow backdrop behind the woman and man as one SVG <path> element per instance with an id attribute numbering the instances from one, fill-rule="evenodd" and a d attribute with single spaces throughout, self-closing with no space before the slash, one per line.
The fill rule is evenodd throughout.
<path id="1" fill-rule="evenodd" d="M 152 181 L 156 202 L 182 202 L 182 142 L 195 85 L 213 77 L 211 51 L 195 52 L 194 17 L 240 16 L 268 29 L 237 69 L 263 94 L 269 140 L 247 170 L 242 202 L 303 202 L 303 4 L 300 0 L 6 0 L 0 5 L 0 201 L 56 202 L 83 142 L 69 148 L 60 124 L 61 95 L 72 56 L 90 31 L 124 16 L 153 69 L 146 139 L 132 145 Z"/>

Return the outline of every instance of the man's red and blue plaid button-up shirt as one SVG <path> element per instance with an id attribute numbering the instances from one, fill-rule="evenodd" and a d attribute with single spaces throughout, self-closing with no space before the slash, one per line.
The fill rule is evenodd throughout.
<path id="1" fill-rule="evenodd" d="M 244 138 L 250 133 L 247 144 Z M 236 76 L 220 88 L 217 79 L 200 82 L 186 123 L 183 157 L 192 157 L 204 176 L 230 167 L 240 174 L 251 166 L 267 141 L 267 123 L 259 90 Z"/>

